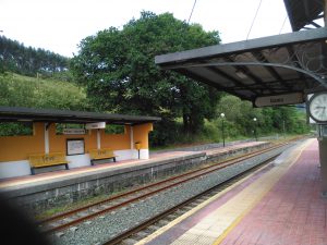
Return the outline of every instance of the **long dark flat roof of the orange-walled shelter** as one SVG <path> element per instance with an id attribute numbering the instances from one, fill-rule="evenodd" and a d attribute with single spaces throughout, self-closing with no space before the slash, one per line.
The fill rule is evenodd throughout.
<path id="1" fill-rule="evenodd" d="M 136 125 L 160 121 L 155 117 L 138 117 L 124 114 L 108 114 L 84 111 L 63 111 L 55 109 L 35 109 L 22 107 L 0 107 L 0 122 L 57 122 L 57 123 L 93 123 Z"/>

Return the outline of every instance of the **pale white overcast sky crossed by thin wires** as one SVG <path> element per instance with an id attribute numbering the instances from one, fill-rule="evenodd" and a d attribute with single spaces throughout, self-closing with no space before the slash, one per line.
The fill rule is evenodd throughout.
<path id="1" fill-rule="evenodd" d="M 223 44 L 245 40 L 259 2 L 197 0 L 191 23 L 218 30 Z M 110 26 L 120 28 L 143 10 L 187 21 L 193 4 L 194 0 L 0 0 L 0 35 L 72 57 L 83 38 Z M 291 32 L 286 17 L 283 0 L 262 0 L 249 39 Z"/>

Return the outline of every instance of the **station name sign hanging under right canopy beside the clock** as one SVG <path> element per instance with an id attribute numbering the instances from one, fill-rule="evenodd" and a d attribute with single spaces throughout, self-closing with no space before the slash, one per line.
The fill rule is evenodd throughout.
<path id="1" fill-rule="evenodd" d="M 257 97 L 254 101 L 256 107 L 271 107 L 282 105 L 303 103 L 304 96 L 302 93 L 291 93 L 278 96 L 264 96 Z"/>

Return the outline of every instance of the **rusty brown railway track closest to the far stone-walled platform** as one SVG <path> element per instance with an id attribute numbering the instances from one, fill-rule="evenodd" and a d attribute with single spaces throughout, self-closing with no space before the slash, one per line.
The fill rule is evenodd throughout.
<path id="1" fill-rule="evenodd" d="M 184 174 L 180 174 L 173 177 L 166 179 L 149 185 L 145 185 L 116 196 L 111 196 L 105 200 L 94 203 L 92 205 L 84 206 L 64 213 L 60 213 L 48 219 L 41 220 L 39 226 L 41 231 L 46 233 L 53 233 L 72 225 L 76 225 L 86 220 L 93 219 L 97 216 L 110 212 L 114 209 L 122 208 L 124 206 L 131 205 L 132 203 L 138 201 L 141 199 L 147 198 L 149 196 L 156 195 L 159 192 L 175 187 L 187 181 L 202 177 L 208 173 L 221 170 L 229 166 L 238 164 L 238 162 L 251 159 L 253 157 L 259 156 L 262 154 L 271 151 L 279 147 L 287 145 L 288 143 L 278 144 L 269 148 L 243 155 L 241 157 L 226 160 L 213 166 L 204 167 L 197 170 L 190 171 Z"/>

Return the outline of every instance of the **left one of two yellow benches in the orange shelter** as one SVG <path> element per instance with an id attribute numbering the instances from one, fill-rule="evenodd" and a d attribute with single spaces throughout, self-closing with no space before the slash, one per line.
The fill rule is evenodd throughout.
<path id="1" fill-rule="evenodd" d="M 69 161 L 66 161 L 65 155 L 63 152 L 29 155 L 28 160 L 31 164 L 31 172 L 33 175 L 35 174 L 35 169 L 37 168 L 64 164 L 65 169 L 69 169 Z"/>

